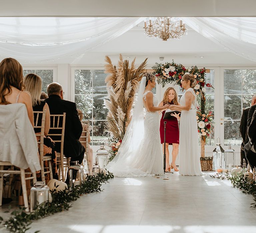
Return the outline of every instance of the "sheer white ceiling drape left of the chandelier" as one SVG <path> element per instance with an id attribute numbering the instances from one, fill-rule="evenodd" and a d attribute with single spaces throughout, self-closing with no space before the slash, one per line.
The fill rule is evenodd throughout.
<path id="1" fill-rule="evenodd" d="M 0 17 L 0 56 L 22 62 L 76 57 L 121 36 L 144 18 Z"/>

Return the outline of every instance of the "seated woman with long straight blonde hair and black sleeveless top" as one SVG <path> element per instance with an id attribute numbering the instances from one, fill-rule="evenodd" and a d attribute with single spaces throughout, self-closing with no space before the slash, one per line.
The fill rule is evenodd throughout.
<path id="1" fill-rule="evenodd" d="M 50 129 L 50 111 L 49 107 L 46 104 L 44 100 L 40 100 L 40 95 L 42 92 L 42 80 L 38 75 L 35 74 L 28 74 L 24 78 L 24 85 L 26 91 L 28 91 L 31 95 L 32 99 L 32 105 L 33 105 L 33 111 L 46 111 L 45 115 L 45 127 L 44 127 L 44 156 L 51 156 L 52 157 L 52 172 L 53 172 L 53 177 L 58 179 L 58 172 L 57 172 L 57 160 L 56 160 L 56 155 L 55 155 L 55 150 L 54 150 L 54 142 L 50 137 L 47 136 L 49 129 Z M 34 116 L 34 124 L 36 124 L 36 115 Z M 38 126 L 41 126 L 42 124 L 42 115 L 39 115 L 38 117 Z M 34 128 L 34 131 L 36 134 L 41 133 L 40 128 Z M 40 136 L 37 136 L 37 141 L 40 140 Z M 40 145 L 38 145 L 40 146 Z M 48 167 L 48 161 L 45 161 L 45 166 Z M 41 176 L 41 173 L 37 174 L 38 177 Z M 47 173 L 45 176 L 46 183 L 48 180 L 50 180 L 50 174 Z"/>

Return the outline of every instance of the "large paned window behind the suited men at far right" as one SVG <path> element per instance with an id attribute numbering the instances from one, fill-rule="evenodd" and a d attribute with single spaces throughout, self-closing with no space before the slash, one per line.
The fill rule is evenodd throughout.
<path id="1" fill-rule="evenodd" d="M 256 70 L 224 70 L 224 144 L 240 145 L 239 124 L 244 108 L 256 94 Z"/>

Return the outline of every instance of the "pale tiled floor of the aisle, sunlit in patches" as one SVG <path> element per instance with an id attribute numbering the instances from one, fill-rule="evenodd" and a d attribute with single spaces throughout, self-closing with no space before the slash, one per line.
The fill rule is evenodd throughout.
<path id="1" fill-rule="evenodd" d="M 256 232 L 252 196 L 209 173 L 114 178 L 103 187 L 103 192 L 82 196 L 70 210 L 33 222 L 28 232 Z"/>

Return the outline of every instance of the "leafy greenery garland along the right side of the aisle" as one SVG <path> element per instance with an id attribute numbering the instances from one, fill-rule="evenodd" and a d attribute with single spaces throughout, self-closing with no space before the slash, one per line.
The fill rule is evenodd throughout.
<path id="1" fill-rule="evenodd" d="M 240 171 L 236 174 L 231 173 L 216 173 L 214 175 L 210 175 L 212 178 L 217 179 L 226 179 L 230 180 L 233 187 L 238 188 L 245 194 L 251 194 L 253 196 L 254 203 L 252 203 L 251 207 L 256 208 L 256 183 L 254 180 L 250 179 L 248 175 L 244 177 L 244 171 Z"/>

